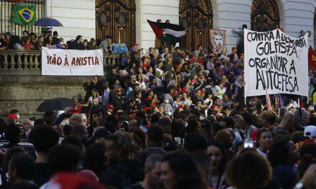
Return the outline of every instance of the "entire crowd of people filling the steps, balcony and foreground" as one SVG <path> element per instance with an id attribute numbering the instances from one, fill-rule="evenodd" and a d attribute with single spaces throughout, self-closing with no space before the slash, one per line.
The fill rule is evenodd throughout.
<path id="1" fill-rule="evenodd" d="M 14 36 L 6 43 L 57 48 L 63 41 L 55 38 L 33 43 L 27 33 L 23 44 Z M 246 82 L 235 84 L 244 67 L 235 47 L 230 55 L 202 45 L 192 53 L 173 46 L 144 53 L 136 42 L 129 48 L 112 41 L 84 44 L 78 36 L 64 46 L 124 50 L 108 75 L 89 78 L 83 102 L 73 96 L 74 105 L 43 117 L 20 118 L 16 107 L 0 119 L 8 141 L 0 151 L 0 188 L 70 188 L 75 181 L 63 178 L 74 174 L 86 181 L 82 188 L 316 187 L 315 70 L 308 72 L 310 97 L 270 95 L 268 109 L 266 96 L 245 98 Z M 34 149 L 26 152 L 24 139 Z"/>

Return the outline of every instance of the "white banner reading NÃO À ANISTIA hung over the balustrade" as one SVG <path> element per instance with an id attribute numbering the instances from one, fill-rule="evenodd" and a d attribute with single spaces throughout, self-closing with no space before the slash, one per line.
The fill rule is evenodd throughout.
<path id="1" fill-rule="evenodd" d="M 102 50 L 42 50 L 42 75 L 103 76 Z"/>

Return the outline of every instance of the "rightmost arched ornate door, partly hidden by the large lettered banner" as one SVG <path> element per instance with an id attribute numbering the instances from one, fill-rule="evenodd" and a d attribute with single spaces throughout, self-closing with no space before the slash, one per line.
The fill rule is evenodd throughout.
<path id="1" fill-rule="evenodd" d="M 251 30 L 268 32 L 279 28 L 280 17 L 274 0 L 253 0 L 250 10 Z"/>

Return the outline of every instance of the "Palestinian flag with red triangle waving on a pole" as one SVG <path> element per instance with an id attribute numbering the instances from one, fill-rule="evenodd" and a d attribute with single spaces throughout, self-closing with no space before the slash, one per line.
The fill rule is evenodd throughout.
<path id="1" fill-rule="evenodd" d="M 178 37 L 183 36 L 186 33 L 184 27 L 176 24 L 153 22 L 150 20 L 147 21 L 150 27 L 155 32 L 157 38 L 161 41 L 174 40 Z"/>

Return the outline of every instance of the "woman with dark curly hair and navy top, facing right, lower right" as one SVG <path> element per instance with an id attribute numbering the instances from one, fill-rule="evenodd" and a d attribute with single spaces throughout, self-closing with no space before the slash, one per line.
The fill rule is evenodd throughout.
<path id="1" fill-rule="evenodd" d="M 298 159 L 295 144 L 289 139 L 279 139 L 272 143 L 268 160 L 273 168 L 273 177 L 283 189 L 292 189 L 295 186 L 297 172 L 295 163 Z"/>

